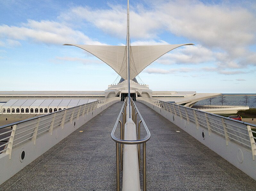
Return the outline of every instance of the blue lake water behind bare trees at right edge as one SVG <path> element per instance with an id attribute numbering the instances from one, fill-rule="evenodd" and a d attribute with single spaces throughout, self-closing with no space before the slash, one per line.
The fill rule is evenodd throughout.
<path id="1" fill-rule="evenodd" d="M 223 94 L 223 105 L 225 106 L 245 106 L 245 95 L 248 95 L 247 106 L 256 108 L 256 94 Z M 210 99 L 198 101 L 195 105 L 210 105 Z M 221 96 L 211 100 L 211 105 L 222 105 Z"/>

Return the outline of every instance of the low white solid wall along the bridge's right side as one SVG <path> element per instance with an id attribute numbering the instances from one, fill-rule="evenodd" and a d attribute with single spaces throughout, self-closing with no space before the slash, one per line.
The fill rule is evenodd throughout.
<path id="1" fill-rule="evenodd" d="M 159 107 L 159 105 L 162 104 L 162 102 L 158 100 L 148 98 L 145 99 L 140 97 L 137 98 L 137 101 L 142 102 L 148 107 L 152 108 L 157 113 L 161 114 L 163 117 L 165 117 L 166 119 L 177 125 L 179 128 L 183 129 L 188 134 L 193 136 L 195 139 L 200 141 L 202 144 L 210 148 L 212 151 L 219 154 L 222 158 L 226 159 L 232 165 L 234 165 L 235 167 L 237 167 L 238 169 L 252 177 L 252 179 L 256 180 L 255 143 L 252 144 L 252 149 L 250 149 L 241 144 L 237 144 L 236 142 L 231 140 L 227 140 L 226 142 L 225 137 L 219 136 L 218 134 L 212 131 L 209 133 L 209 130 L 207 130 L 206 128 L 202 128 L 201 126 L 196 125 L 195 123 L 189 120 L 185 120 L 182 117 L 175 115 L 170 111 L 164 109 L 163 107 Z M 205 112 L 202 113 L 205 114 Z M 246 125 L 244 126 L 246 128 Z M 202 132 L 204 132 L 205 138 L 202 137 Z M 251 136 L 251 138 L 253 137 Z M 254 151 L 253 153 L 252 150 Z"/>

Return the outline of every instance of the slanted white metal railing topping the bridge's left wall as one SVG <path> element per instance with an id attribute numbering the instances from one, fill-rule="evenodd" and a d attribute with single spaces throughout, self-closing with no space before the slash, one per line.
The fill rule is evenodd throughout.
<path id="1" fill-rule="evenodd" d="M 36 139 L 45 133 L 52 133 L 56 127 L 62 127 L 63 129 L 66 123 L 71 123 L 80 116 L 93 112 L 96 108 L 102 107 L 117 99 L 120 98 L 106 98 L 1 126 L 0 129 L 11 129 L 0 134 L 1 137 L 4 137 L 0 139 L 0 142 L 3 143 L 0 145 L 0 155 L 7 153 L 10 154 L 9 158 L 11 158 L 12 148 L 24 144 L 27 141 L 34 141 L 34 144 L 36 144 Z"/>

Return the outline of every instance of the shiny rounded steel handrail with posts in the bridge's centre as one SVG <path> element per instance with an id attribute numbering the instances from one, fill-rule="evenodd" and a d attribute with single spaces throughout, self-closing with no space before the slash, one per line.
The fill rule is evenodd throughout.
<path id="1" fill-rule="evenodd" d="M 116 123 L 114 125 L 114 128 L 111 132 L 111 138 L 116 142 L 116 180 L 117 180 L 117 191 L 120 191 L 120 168 L 122 170 L 122 164 L 123 164 L 123 156 L 122 156 L 122 148 L 123 144 L 137 144 L 138 145 L 138 163 L 139 163 L 139 169 L 140 169 L 140 144 L 143 144 L 143 191 L 146 191 L 146 142 L 150 139 L 151 134 L 150 131 L 148 130 L 145 121 L 143 120 L 138 108 L 136 107 L 136 104 L 134 101 L 131 99 L 131 104 L 132 104 L 132 112 L 131 112 L 131 118 L 136 124 L 136 129 L 138 128 L 138 137 L 137 140 L 123 140 L 124 138 L 124 124 L 126 121 L 126 107 L 127 107 L 127 101 L 128 98 L 125 99 L 124 104 L 121 108 L 121 111 L 117 117 Z M 129 107 L 129 106 L 128 106 Z M 124 110 L 124 112 L 123 112 Z M 136 113 L 135 113 L 136 111 Z M 121 114 L 123 114 L 123 123 L 120 121 Z M 140 117 L 140 121 L 138 122 L 137 126 L 137 114 Z M 117 138 L 115 136 L 115 131 L 117 128 L 118 123 L 120 123 L 120 138 Z M 140 138 L 140 125 L 141 123 L 143 124 L 145 131 L 146 131 L 146 136 L 144 138 Z M 119 144 L 121 145 L 119 147 Z M 119 148 L 121 148 L 119 152 Z"/>

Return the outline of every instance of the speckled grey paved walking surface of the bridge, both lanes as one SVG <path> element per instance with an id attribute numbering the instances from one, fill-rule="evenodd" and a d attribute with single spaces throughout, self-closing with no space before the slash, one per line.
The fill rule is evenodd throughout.
<path id="1" fill-rule="evenodd" d="M 115 190 L 110 133 L 122 104 L 88 121 L 0 190 Z M 256 181 L 152 109 L 136 105 L 152 135 L 147 143 L 148 190 L 255 190 Z"/>

